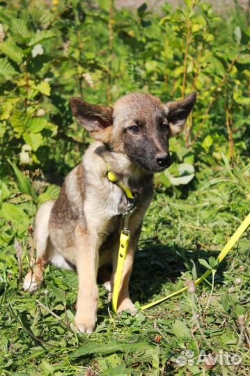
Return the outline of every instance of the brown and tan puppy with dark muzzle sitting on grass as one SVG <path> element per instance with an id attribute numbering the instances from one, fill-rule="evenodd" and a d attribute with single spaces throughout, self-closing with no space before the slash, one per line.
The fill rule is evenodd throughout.
<path id="1" fill-rule="evenodd" d="M 72 98 L 72 112 L 96 140 L 83 161 L 65 178 L 56 201 L 42 205 L 36 214 L 36 263 L 24 279 L 24 290 L 34 291 L 43 281 L 48 263 L 70 269 L 79 276 L 75 325 L 91 333 L 97 320 L 97 271 L 113 265 L 114 284 L 122 214 L 127 197 L 107 179 L 114 171 L 136 194 L 130 218 L 131 240 L 123 270 L 118 312 L 135 311 L 129 281 L 141 224 L 153 196 L 153 173 L 170 165 L 169 138 L 180 133 L 196 101 L 162 104 L 156 97 L 132 93 L 111 107 Z"/>

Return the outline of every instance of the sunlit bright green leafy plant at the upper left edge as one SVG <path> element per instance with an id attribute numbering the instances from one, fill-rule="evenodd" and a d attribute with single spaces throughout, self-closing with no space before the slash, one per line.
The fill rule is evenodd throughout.
<path id="1" fill-rule="evenodd" d="M 55 34 L 32 31 L 26 19 L 11 18 L 8 26 L 3 25 L 6 38 L 0 43 L 2 144 L 7 155 L 21 146 L 21 163 L 39 163 L 38 148 L 46 145 L 57 130 L 57 125 L 49 121 L 43 105 L 46 100 L 42 99 L 51 92 L 48 63 L 52 58 L 45 55 L 45 45 Z"/>

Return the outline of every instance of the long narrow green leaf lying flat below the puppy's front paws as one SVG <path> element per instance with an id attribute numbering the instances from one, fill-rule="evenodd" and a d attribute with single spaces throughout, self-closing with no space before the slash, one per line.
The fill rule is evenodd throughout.
<path id="1" fill-rule="evenodd" d="M 149 347 L 148 343 L 146 342 L 139 342 L 139 343 L 118 343 L 118 342 L 111 342 L 111 343 L 102 343 L 96 345 L 95 343 L 90 343 L 88 345 L 84 345 L 79 347 L 79 349 L 72 354 L 70 354 L 70 358 L 78 358 L 88 354 L 112 354 L 114 352 L 133 352 L 134 350 L 138 349 L 145 349 Z"/>

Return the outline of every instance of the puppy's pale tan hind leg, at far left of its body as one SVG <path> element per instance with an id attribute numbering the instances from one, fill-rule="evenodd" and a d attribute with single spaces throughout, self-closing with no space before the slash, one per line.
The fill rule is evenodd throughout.
<path id="1" fill-rule="evenodd" d="M 43 204 L 37 214 L 35 223 L 36 263 L 24 278 L 23 288 L 25 291 L 38 290 L 43 282 L 45 267 L 52 258 L 52 244 L 49 240 L 49 216 L 54 201 Z"/>

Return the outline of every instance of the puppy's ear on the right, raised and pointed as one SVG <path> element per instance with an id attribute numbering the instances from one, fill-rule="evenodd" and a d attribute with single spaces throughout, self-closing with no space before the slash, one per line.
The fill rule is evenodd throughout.
<path id="1" fill-rule="evenodd" d="M 184 100 L 178 100 L 166 104 L 166 111 L 168 112 L 167 118 L 169 120 L 172 136 L 176 136 L 181 132 L 195 102 L 196 93 L 192 93 Z"/>

